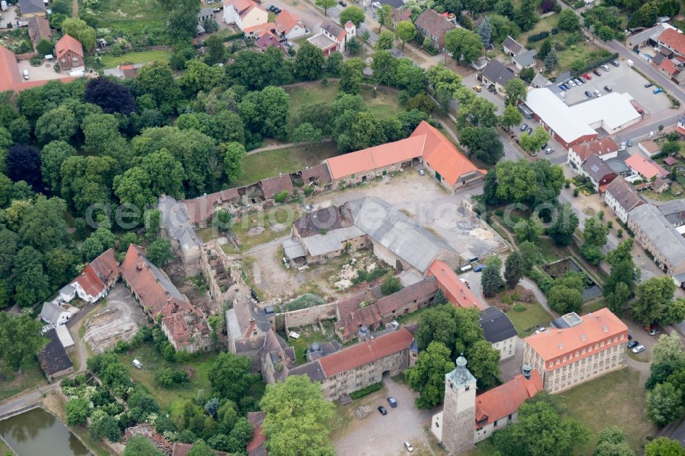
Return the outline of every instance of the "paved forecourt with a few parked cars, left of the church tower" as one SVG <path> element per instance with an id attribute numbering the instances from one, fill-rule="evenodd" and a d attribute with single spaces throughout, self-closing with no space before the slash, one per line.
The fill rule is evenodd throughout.
<path id="1" fill-rule="evenodd" d="M 351 431 L 338 438 L 334 445 L 340 456 L 397 456 L 406 453 L 404 442 L 410 442 L 414 447 L 428 446 L 426 433 L 423 429 L 436 413 L 433 410 L 419 410 L 414 406 L 414 398 L 419 394 L 410 390 L 407 385 L 397 383 L 386 377 L 384 379 L 386 391 L 362 398 L 354 405 L 369 405 L 373 409 L 371 415 L 363 420 L 353 422 Z M 397 408 L 390 408 L 386 397 L 397 399 Z M 347 407 L 353 407 L 348 405 Z M 377 407 L 383 405 L 388 414 L 383 416 Z M 352 418 L 356 420 L 356 418 Z"/>

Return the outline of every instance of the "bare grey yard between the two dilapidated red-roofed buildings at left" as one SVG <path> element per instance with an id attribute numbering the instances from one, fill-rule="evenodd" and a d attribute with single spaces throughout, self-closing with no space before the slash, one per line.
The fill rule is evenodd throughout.
<path id="1" fill-rule="evenodd" d="M 129 290 L 119 283 L 107 296 L 107 305 L 86 320 L 84 340 L 94 353 L 102 353 L 118 340 L 131 340 L 147 317 Z"/>

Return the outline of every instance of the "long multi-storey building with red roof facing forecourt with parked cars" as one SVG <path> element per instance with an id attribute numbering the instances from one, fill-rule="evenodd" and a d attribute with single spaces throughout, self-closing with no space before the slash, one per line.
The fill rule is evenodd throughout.
<path id="1" fill-rule="evenodd" d="M 288 375 L 307 375 L 321 383 L 327 401 L 334 401 L 382 381 L 386 372 L 390 377 L 403 372 L 410 366 L 412 342 L 414 335 L 401 327 L 291 368 Z"/>

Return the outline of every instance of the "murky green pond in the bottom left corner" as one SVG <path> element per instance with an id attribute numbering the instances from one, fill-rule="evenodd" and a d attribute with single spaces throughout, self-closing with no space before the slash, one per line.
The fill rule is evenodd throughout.
<path id="1" fill-rule="evenodd" d="M 17 456 L 91 454 L 60 420 L 40 407 L 0 421 L 0 437 Z"/>

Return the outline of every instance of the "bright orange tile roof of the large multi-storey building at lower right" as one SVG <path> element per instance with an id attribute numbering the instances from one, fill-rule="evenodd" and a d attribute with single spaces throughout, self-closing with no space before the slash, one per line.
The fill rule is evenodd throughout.
<path id="1" fill-rule="evenodd" d="M 580 324 L 570 328 L 550 328 L 539 334 L 529 335 L 525 338 L 525 343 L 547 362 L 603 340 L 613 340 L 616 335 L 627 335 L 628 328 L 625 323 L 606 307 L 582 316 L 582 320 Z M 555 364 L 554 368 L 560 368 L 573 361 L 575 357 L 566 363 Z"/>

